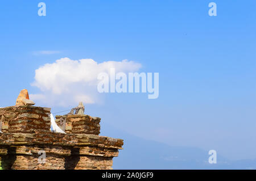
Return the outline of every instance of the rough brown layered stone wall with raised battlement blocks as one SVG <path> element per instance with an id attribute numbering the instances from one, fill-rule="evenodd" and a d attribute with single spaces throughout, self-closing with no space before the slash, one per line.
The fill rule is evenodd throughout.
<path id="1" fill-rule="evenodd" d="M 123 140 L 96 135 L 100 118 L 68 116 L 69 133 L 53 133 L 49 111 L 34 106 L 0 108 L 2 169 L 112 169 Z M 92 125 L 97 132 L 88 128 Z M 38 161 L 40 150 L 46 153 L 45 163 Z"/>

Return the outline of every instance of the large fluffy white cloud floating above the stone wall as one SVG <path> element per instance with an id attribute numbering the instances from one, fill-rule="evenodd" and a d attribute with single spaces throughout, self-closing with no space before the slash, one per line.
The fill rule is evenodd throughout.
<path id="1" fill-rule="evenodd" d="M 32 100 L 42 101 L 47 106 L 73 106 L 82 101 L 85 104 L 100 102 L 97 91 L 99 73 L 134 72 L 141 64 L 133 61 L 105 61 L 98 64 L 92 59 L 71 60 L 61 58 L 52 64 L 45 64 L 35 70 L 35 81 L 31 84 L 40 89 L 31 94 Z"/>

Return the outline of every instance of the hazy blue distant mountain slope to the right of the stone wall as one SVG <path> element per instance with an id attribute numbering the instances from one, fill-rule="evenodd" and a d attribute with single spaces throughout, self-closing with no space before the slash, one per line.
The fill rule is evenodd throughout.
<path id="1" fill-rule="evenodd" d="M 217 163 L 210 164 L 210 155 L 203 149 L 144 140 L 106 123 L 101 132 L 124 140 L 123 150 L 113 159 L 113 169 L 256 169 L 256 159 L 229 161 L 217 154 Z"/>

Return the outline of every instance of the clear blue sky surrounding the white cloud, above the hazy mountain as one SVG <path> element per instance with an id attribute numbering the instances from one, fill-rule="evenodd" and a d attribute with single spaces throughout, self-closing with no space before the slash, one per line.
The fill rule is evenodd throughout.
<path id="1" fill-rule="evenodd" d="M 39 2 L 0 3 L 1 107 L 24 88 L 41 92 L 31 86 L 35 70 L 60 58 L 127 59 L 159 73 L 159 98 L 113 93 L 85 103 L 102 118 L 102 134 L 109 125 L 232 160 L 256 158 L 255 1 L 42 1 L 47 15 L 38 16 Z M 208 15 L 209 2 L 217 16 Z"/>

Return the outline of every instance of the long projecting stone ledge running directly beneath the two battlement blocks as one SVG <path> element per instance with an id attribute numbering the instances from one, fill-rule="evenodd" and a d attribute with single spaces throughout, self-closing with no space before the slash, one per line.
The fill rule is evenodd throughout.
<path id="1" fill-rule="evenodd" d="M 59 145 L 59 146 L 98 146 L 101 148 L 122 149 L 123 140 L 93 134 L 62 134 L 52 132 L 2 133 L 0 145 Z"/>

